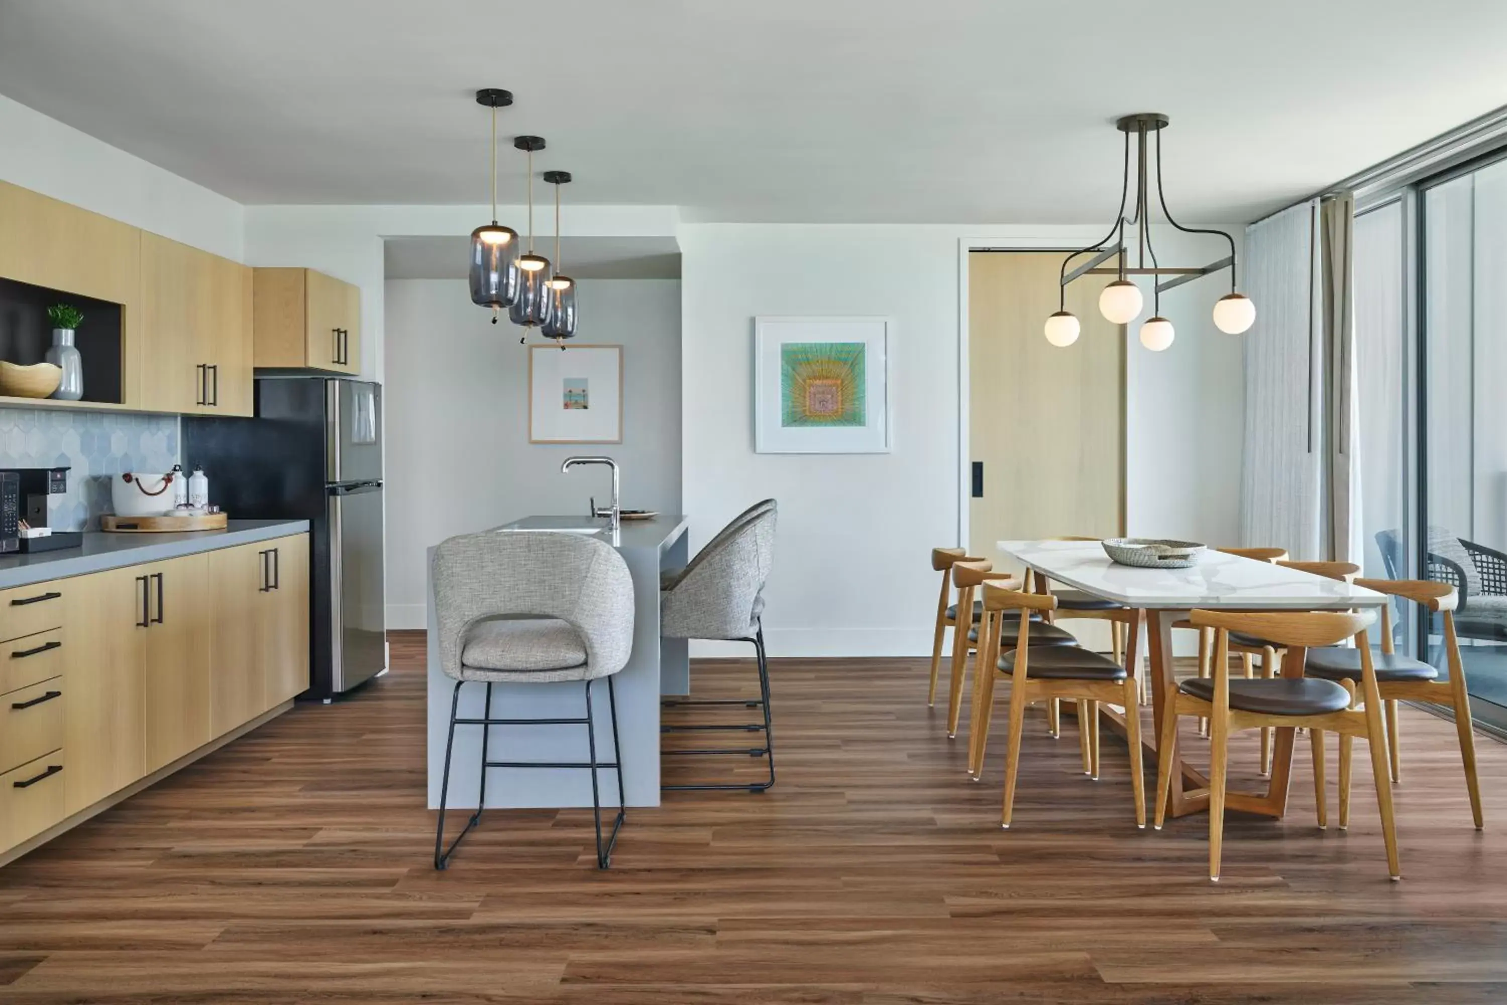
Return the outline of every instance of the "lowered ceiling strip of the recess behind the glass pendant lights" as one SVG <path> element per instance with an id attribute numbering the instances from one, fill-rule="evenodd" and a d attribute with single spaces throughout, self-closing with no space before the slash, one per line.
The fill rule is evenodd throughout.
<path id="1" fill-rule="evenodd" d="M 565 237 L 540 246 L 571 279 L 680 279 L 675 238 Z M 469 237 L 399 237 L 383 243 L 387 279 L 466 279 Z"/>

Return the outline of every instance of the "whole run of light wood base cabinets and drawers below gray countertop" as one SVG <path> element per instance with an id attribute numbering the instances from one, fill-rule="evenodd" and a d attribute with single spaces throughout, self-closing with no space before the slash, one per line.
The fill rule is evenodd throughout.
<path id="1" fill-rule="evenodd" d="M 18 631 L 0 863 L 307 690 L 309 535 L 0 591 L 0 636 Z"/>

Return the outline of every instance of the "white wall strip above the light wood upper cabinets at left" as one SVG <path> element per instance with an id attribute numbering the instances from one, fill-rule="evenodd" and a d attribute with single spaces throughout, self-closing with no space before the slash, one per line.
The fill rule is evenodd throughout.
<path id="1" fill-rule="evenodd" d="M 6 96 L 0 179 L 243 261 L 241 203 Z"/>

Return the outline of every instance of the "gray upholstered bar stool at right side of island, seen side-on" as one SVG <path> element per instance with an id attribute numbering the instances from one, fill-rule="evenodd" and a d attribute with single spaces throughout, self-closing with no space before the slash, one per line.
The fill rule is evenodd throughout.
<path id="1" fill-rule="evenodd" d="M 775 559 L 773 499 L 750 506 L 717 532 L 680 574 L 668 579 L 660 600 L 660 634 L 666 639 L 713 639 L 749 642 L 758 657 L 758 699 L 677 699 L 666 708 L 684 705 L 744 705 L 763 708 L 760 723 L 662 725 L 660 732 L 763 732 L 758 747 L 689 747 L 662 750 L 662 755 L 732 755 L 764 758 L 769 777 L 763 782 L 707 782 L 662 785 L 663 790 L 746 790 L 763 793 L 775 784 L 775 735 L 769 708 L 769 660 L 764 654 L 764 582 Z"/>

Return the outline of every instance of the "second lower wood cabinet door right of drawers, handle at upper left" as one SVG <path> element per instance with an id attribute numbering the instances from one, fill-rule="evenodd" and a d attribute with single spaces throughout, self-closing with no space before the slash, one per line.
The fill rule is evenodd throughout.
<path id="1" fill-rule="evenodd" d="M 209 562 L 188 554 L 137 567 L 146 576 L 142 687 L 146 770 L 209 741 Z"/>

